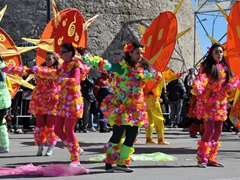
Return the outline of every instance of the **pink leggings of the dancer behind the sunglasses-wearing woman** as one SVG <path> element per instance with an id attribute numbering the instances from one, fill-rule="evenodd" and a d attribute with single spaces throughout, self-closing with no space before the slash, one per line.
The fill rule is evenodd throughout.
<path id="1" fill-rule="evenodd" d="M 45 125 L 48 128 L 52 128 L 54 126 L 56 120 L 56 116 L 54 115 L 41 115 L 41 114 L 36 114 L 36 126 L 37 127 L 44 127 Z"/>

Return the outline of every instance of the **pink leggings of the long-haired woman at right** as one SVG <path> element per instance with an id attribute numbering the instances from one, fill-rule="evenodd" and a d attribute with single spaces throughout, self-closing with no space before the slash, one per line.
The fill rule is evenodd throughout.
<path id="1" fill-rule="evenodd" d="M 220 135 L 222 133 L 223 121 L 205 121 L 204 127 L 205 132 L 202 136 L 202 141 L 209 142 L 212 139 L 217 142 L 219 141 Z"/>

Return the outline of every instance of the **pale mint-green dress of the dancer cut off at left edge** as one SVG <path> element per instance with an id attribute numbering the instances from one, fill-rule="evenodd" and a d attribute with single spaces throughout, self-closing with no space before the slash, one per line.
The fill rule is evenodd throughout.
<path id="1" fill-rule="evenodd" d="M 6 74 L 1 71 L 3 67 L 5 67 L 4 61 L 0 61 L 0 110 L 11 106 L 11 96 L 7 88 Z"/>

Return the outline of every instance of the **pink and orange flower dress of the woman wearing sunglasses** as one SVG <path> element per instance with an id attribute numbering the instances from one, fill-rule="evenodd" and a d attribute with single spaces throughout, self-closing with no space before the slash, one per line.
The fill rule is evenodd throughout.
<path id="1" fill-rule="evenodd" d="M 79 79 L 73 77 L 75 68 L 80 69 Z M 35 66 L 35 74 L 40 78 L 53 79 L 60 86 L 56 115 L 70 119 L 81 118 L 83 114 L 83 98 L 80 91 L 80 80 L 86 78 L 89 67 L 77 59 L 63 62 L 59 70 Z M 57 91 L 57 89 L 55 89 Z"/>

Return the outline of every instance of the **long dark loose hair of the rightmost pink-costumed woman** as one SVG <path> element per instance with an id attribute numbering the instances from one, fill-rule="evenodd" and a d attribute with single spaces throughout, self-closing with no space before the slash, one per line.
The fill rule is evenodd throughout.
<path id="1" fill-rule="evenodd" d="M 218 67 L 216 66 L 216 61 L 212 57 L 213 50 L 215 48 L 223 47 L 220 44 L 213 44 L 212 47 L 209 50 L 209 53 L 206 57 L 206 59 L 202 62 L 201 67 L 203 68 L 203 73 L 206 73 L 208 77 L 210 77 L 213 81 L 219 81 L 220 80 L 220 72 L 218 70 Z M 233 76 L 233 73 L 231 69 L 229 68 L 227 61 L 225 57 L 222 57 L 222 60 L 220 61 L 220 64 L 226 68 L 226 82 L 229 82 L 230 77 Z"/>

